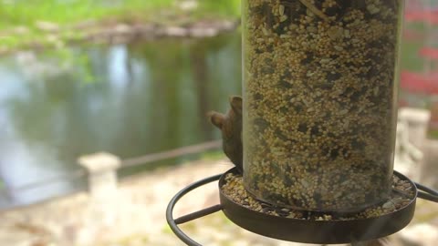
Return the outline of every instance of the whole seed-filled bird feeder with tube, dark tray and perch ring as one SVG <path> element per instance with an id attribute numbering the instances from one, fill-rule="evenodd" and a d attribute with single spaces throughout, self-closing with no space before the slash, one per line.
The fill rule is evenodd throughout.
<path id="1" fill-rule="evenodd" d="M 244 173 L 178 193 L 178 224 L 217 210 L 286 241 L 379 239 L 438 192 L 393 170 L 402 0 L 243 0 Z M 177 220 L 175 203 L 219 180 L 221 204 Z M 422 191 L 418 191 L 422 190 Z"/>

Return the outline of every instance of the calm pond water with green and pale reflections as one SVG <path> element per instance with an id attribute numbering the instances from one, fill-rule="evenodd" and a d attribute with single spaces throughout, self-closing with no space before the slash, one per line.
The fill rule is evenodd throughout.
<path id="1" fill-rule="evenodd" d="M 84 154 L 126 159 L 220 138 L 205 113 L 241 94 L 240 34 L 19 53 L 0 58 L 0 78 L 4 209 L 84 189 L 75 179 L 19 190 L 78 169 Z"/>

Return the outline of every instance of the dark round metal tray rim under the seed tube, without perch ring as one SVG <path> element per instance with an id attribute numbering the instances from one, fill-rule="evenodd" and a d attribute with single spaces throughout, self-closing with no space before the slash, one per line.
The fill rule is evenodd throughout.
<path id="1" fill-rule="evenodd" d="M 409 180 L 394 173 L 402 180 Z M 412 188 L 415 189 L 412 181 Z M 224 185 L 224 176 L 219 186 Z M 417 192 L 416 190 L 414 191 Z M 409 205 L 381 217 L 360 220 L 301 220 L 249 210 L 220 193 L 224 214 L 248 231 L 284 241 L 335 244 L 379 239 L 400 231 L 412 220 L 416 195 Z"/>

